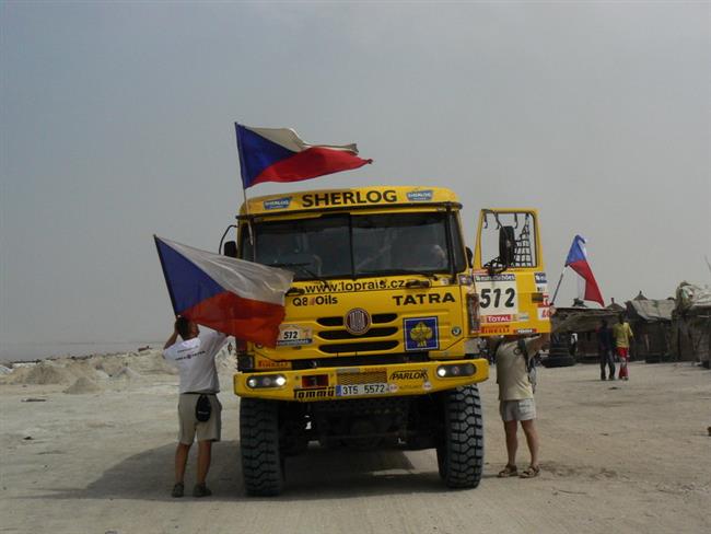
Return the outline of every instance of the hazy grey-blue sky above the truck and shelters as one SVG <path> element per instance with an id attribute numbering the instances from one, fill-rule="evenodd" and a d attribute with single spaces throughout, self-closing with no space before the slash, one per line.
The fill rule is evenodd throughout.
<path id="1" fill-rule="evenodd" d="M 250 196 L 445 186 L 469 244 L 538 208 L 551 286 L 575 233 L 606 301 L 709 283 L 710 5 L 2 1 L 2 346 L 167 337 L 152 234 L 217 249 L 234 120 L 375 160 Z"/>

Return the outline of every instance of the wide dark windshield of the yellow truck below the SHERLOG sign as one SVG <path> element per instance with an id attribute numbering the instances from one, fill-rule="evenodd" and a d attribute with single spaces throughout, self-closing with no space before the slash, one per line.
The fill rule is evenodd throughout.
<path id="1" fill-rule="evenodd" d="M 241 256 L 292 270 L 296 280 L 431 276 L 451 272 L 452 260 L 461 271 L 465 260 L 458 220 L 448 213 L 448 221 L 446 212 L 420 212 L 258 222 L 253 227 L 256 259 L 244 227 Z"/>

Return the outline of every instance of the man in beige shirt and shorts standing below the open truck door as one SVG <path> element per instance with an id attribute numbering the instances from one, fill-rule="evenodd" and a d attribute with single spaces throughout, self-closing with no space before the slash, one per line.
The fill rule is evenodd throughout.
<path id="1" fill-rule="evenodd" d="M 506 453 L 509 462 L 499 472 L 499 477 L 520 476 L 533 478 L 538 476 L 538 433 L 536 432 L 536 403 L 534 391 L 528 380 L 527 360 L 533 358 L 544 345 L 549 335 L 537 337 L 506 336 L 496 352 L 497 383 L 499 384 L 499 411 L 506 434 Z M 523 350 L 522 350 L 523 349 Z M 518 450 L 518 421 L 526 436 L 531 452 L 531 465 L 518 474 L 516 467 L 516 451 Z"/>

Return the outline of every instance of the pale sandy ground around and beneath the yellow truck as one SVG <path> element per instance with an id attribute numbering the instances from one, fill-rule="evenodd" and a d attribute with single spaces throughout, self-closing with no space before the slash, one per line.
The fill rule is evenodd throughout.
<path id="1" fill-rule="evenodd" d="M 598 381 L 595 365 L 543 369 L 536 479 L 496 477 L 505 452 L 492 376 L 478 489 L 445 489 L 434 451 L 314 448 L 288 460 L 273 499 L 244 495 L 230 365 L 214 495 L 200 500 L 170 497 L 177 376 L 158 352 L 2 376 L 0 532 L 711 532 L 711 371 L 692 363 L 633 363 L 628 383 Z M 188 490 L 193 479 L 191 456 Z"/>

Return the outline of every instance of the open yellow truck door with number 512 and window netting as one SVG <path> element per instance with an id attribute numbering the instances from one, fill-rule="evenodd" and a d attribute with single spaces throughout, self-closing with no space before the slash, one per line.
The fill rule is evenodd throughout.
<path id="1" fill-rule="evenodd" d="M 536 210 L 481 210 L 474 283 L 479 298 L 480 336 L 550 332 L 548 280 Z"/>

